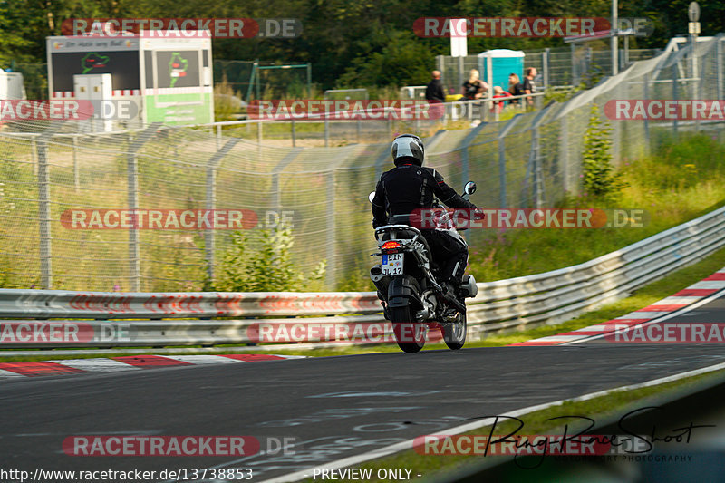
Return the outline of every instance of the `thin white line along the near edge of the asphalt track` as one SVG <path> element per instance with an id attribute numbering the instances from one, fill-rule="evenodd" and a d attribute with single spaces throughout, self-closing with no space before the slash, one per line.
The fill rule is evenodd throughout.
<path id="1" fill-rule="evenodd" d="M 635 389 L 640 389 L 640 388 L 649 387 L 649 386 L 656 386 L 658 384 L 677 381 L 680 379 L 704 374 L 707 372 L 719 371 L 720 369 L 725 369 L 725 362 L 721 362 L 720 364 L 715 364 L 715 365 L 711 365 L 708 367 L 703 367 L 701 369 L 694 369 L 694 370 L 688 371 L 688 372 L 681 372 L 679 374 L 674 374 L 672 376 L 665 376 L 665 377 L 662 377 L 659 379 L 653 379 L 652 381 L 639 382 L 636 384 L 629 384 L 626 386 L 620 386 L 620 387 L 616 387 L 616 388 L 612 388 L 612 389 L 606 389 L 604 391 L 590 392 L 589 394 L 584 394 L 582 396 L 578 396 L 573 399 L 546 402 L 544 404 L 538 404 L 536 406 L 530 406 L 528 408 L 523 408 L 523 409 L 516 410 L 516 411 L 510 411 L 510 412 L 507 412 L 505 415 L 517 417 L 517 416 L 527 414 L 529 412 L 540 411 L 540 410 L 545 410 L 547 408 L 551 408 L 553 406 L 559 406 L 559 405 L 564 404 L 565 402 L 569 402 L 569 401 L 574 401 L 574 402 L 587 401 L 587 400 L 594 399 L 594 398 L 597 398 L 600 396 L 605 396 L 612 392 L 633 391 Z M 454 428 L 451 428 L 450 430 L 440 431 L 440 433 L 437 433 L 437 434 L 447 434 L 447 435 L 448 434 L 460 434 L 462 432 L 466 432 L 469 430 L 477 430 L 478 428 L 488 426 L 490 424 L 493 424 L 495 421 L 496 421 L 495 418 L 487 418 L 485 420 L 478 420 L 476 422 L 470 422 L 468 424 L 456 426 Z M 368 461 L 370 459 L 377 459 L 377 458 L 381 458 L 383 456 L 388 456 L 388 455 L 391 455 L 392 453 L 397 453 L 397 452 L 403 451 L 405 449 L 413 449 L 414 441 L 415 441 L 415 439 L 401 441 L 400 443 L 395 443 L 395 444 L 386 446 L 381 449 L 376 449 L 373 451 L 369 451 L 367 453 L 362 453 L 361 455 L 355 455 L 355 456 L 351 456 L 348 458 L 331 461 L 329 463 L 325 463 L 324 466 L 316 466 L 316 467 L 311 467 L 309 469 L 301 469 L 299 471 L 295 471 L 294 473 L 289 473 L 289 474 L 283 475 L 281 477 L 265 479 L 265 480 L 262 480 L 260 483 L 287 483 L 287 482 L 292 482 L 292 481 L 299 481 L 302 478 L 310 478 L 311 473 L 314 469 L 345 468 L 345 467 L 354 465 L 356 463 L 362 463 L 363 461 Z"/>

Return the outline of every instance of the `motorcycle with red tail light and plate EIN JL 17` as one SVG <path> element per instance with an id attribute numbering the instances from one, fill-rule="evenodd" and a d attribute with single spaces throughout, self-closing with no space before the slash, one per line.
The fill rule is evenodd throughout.
<path id="1" fill-rule="evenodd" d="M 476 183 L 469 181 L 463 188 L 464 198 L 476 192 Z M 375 193 L 370 194 L 370 201 Z M 432 217 L 435 229 L 444 229 L 466 245 L 437 199 L 433 200 Z M 372 266 L 370 278 L 378 290 L 383 314 L 392 323 L 398 346 L 406 353 L 417 353 L 426 342 L 430 328 L 440 328 L 443 340 L 451 350 L 458 350 L 466 343 L 466 305 L 455 292 L 451 293 L 440 284 L 440 267 L 433 261 L 430 246 L 417 227 L 411 226 L 411 218 L 403 217 L 398 223 L 375 229 L 380 264 Z M 466 275 L 458 287 L 465 298 L 475 297 L 478 286 L 473 275 Z"/>

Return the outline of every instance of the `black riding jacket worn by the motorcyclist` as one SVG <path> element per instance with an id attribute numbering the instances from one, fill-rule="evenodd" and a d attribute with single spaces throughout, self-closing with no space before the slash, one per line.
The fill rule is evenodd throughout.
<path id="1" fill-rule="evenodd" d="M 476 208 L 450 188 L 435 169 L 403 164 L 382 173 L 378 181 L 372 199 L 372 227 L 387 225 L 389 216 L 432 208 L 433 196 L 449 208 Z"/>

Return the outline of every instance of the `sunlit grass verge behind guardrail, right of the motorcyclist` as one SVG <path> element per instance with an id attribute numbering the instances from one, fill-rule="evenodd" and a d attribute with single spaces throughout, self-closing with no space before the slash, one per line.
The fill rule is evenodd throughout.
<path id="1" fill-rule="evenodd" d="M 642 210 L 642 227 L 481 230 L 488 233 L 474 234 L 469 271 L 478 281 L 548 272 L 701 217 L 725 203 L 723 158 L 725 144 L 704 134 L 665 139 L 652 155 L 623 163 L 621 173 L 628 186 L 614 200 L 583 194 L 557 207 Z"/>

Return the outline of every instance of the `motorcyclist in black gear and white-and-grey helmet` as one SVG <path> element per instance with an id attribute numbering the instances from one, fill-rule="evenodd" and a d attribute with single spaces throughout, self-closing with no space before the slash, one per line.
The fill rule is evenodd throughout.
<path id="1" fill-rule="evenodd" d="M 375 188 L 372 227 L 396 223 L 396 218 L 410 216 L 419 208 L 432 208 L 434 196 L 449 208 L 477 208 L 450 188 L 438 171 L 423 167 L 425 148 L 418 136 L 398 136 L 392 141 L 391 154 L 395 168 L 382 173 Z M 430 228 L 420 232 L 440 266 L 445 288 L 458 295 L 457 289 L 469 260 L 468 246 L 456 232 Z"/>

